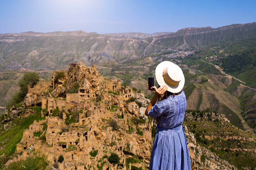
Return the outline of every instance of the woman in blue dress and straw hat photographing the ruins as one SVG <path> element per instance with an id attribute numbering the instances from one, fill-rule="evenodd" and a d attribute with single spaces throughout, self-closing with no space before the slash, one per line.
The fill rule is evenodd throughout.
<path id="1" fill-rule="evenodd" d="M 158 122 L 149 170 L 191 170 L 187 139 L 181 125 L 187 106 L 182 91 L 183 72 L 172 62 L 161 62 L 156 67 L 156 81 L 160 87 L 152 87 L 154 96 L 145 111 L 146 116 Z M 156 104 L 160 97 L 162 100 Z"/>

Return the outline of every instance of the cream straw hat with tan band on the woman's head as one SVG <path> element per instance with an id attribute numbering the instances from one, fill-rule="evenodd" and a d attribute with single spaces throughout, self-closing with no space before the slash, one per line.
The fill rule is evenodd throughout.
<path id="1" fill-rule="evenodd" d="M 167 91 L 178 93 L 184 87 L 185 78 L 178 65 L 166 61 L 156 67 L 156 81 L 160 86 L 167 85 Z"/>

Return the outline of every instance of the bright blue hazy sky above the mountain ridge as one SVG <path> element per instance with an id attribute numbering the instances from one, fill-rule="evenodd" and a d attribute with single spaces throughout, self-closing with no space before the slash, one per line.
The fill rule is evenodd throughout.
<path id="1" fill-rule="evenodd" d="M 0 34 L 176 32 L 256 21 L 256 0 L 0 0 Z"/>

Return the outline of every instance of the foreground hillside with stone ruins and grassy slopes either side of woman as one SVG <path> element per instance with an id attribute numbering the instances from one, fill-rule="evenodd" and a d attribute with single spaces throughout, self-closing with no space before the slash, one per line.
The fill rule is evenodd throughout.
<path id="1" fill-rule="evenodd" d="M 71 63 L 68 71 L 54 72 L 50 82 L 39 82 L 30 88 L 22 107 L 12 107 L 1 116 L 2 166 L 14 167 L 33 155 L 46 155 L 50 167 L 147 169 L 156 126 L 153 119 L 144 116 L 149 100 L 130 87 L 122 87 L 118 79 L 104 80 L 95 67 Z M 59 72 L 65 74 L 57 79 Z M 247 164 L 254 159 L 253 155 L 247 158 L 243 154 L 255 152 L 251 142 L 255 143 L 256 137 L 238 130 L 224 115 L 208 110 L 200 113 L 187 110 L 184 120 L 192 168 L 254 166 Z M 231 139 L 219 137 L 226 134 Z M 235 135 L 243 138 L 233 138 Z M 222 143 L 234 140 L 237 149 L 234 146 L 227 149 L 226 145 L 213 147 L 215 138 L 221 138 Z M 222 157 L 226 152 L 243 159 L 225 160 Z M 112 153 L 120 158 L 117 164 L 109 159 Z M 60 155 L 64 161 L 58 162 Z"/>

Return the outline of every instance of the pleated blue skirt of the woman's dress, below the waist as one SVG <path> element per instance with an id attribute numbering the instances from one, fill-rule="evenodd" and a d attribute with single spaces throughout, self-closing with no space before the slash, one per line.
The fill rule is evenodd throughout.
<path id="1" fill-rule="evenodd" d="M 173 129 L 158 128 L 149 170 L 191 170 L 189 149 L 182 125 Z"/>

